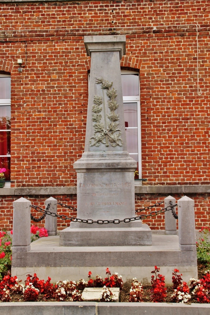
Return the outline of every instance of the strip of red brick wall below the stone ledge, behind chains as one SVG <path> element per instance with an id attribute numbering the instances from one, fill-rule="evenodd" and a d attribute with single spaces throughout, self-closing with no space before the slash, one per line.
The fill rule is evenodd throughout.
<path id="1" fill-rule="evenodd" d="M 12 216 L 13 216 L 13 207 L 12 202 L 17 200 L 21 196 L 5 196 L 1 198 L 0 203 L 0 230 L 6 229 L 7 231 L 12 230 Z M 35 206 L 39 206 L 45 209 L 45 200 L 49 196 L 22 196 L 31 201 L 31 203 Z M 60 203 L 65 203 L 69 206 L 77 207 L 77 196 L 76 195 L 54 195 L 52 196 L 58 200 Z M 155 204 L 156 202 L 164 201 L 167 195 L 163 194 L 136 194 L 135 202 L 136 209 L 147 207 L 151 204 Z M 181 194 L 173 194 L 173 197 L 176 198 L 176 201 L 183 197 Z M 196 217 L 196 229 L 200 229 L 201 226 L 210 226 L 210 194 L 188 194 L 188 197 L 195 200 L 195 217 Z M 153 208 L 150 211 L 157 211 L 161 208 L 164 208 L 164 203 L 161 204 L 160 207 Z M 148 213 L 142 212 L 142 213 Z M 142 214 L 141 213 L 141 214 Z M 35 217 L 40 217 L 42 213 L 35 211 L 31 208 L 31 214 Z M 62 208 L 58 205 L 58 214 L 63 214 L 67 216 L 75 216 L 77 212 L 70 212 L 69 209 Z M 140 213 L 139 213 L 140 214 Z M 82 218 L 81 218 L 82 219 Z M 174 219 L 175 220 L 175 219 Z M 62 230 L 65 227 L 70 225 L 70 221 L 63 221 L 58 219 L 58 230 Z M 143 223 L 148 224 L 152 230 L 164 230 L 164 214 L 158 215 L 157 217 L 149 217 L 148 219 L 143 220 Z M 43 220 L 40 223 L 34 223 L 31 221 L 31 224 L 35 224 L 36 226 L 43 227 L 45 221 Z M 177 225 L 178 228 L 178 225 Z"/>

